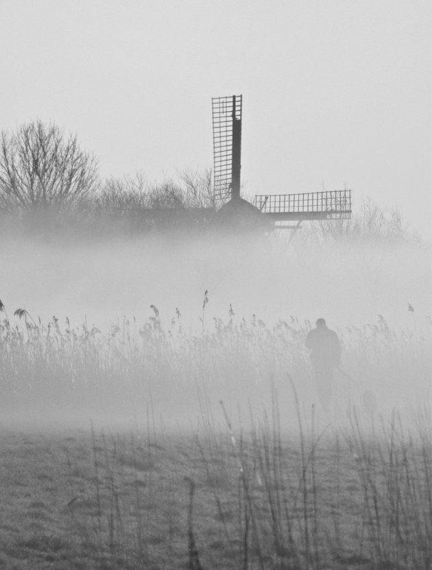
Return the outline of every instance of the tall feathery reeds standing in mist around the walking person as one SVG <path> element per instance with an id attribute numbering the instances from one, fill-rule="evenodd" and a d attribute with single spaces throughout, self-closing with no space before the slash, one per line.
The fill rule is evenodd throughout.
<path id="1" fill-rule="evenodd" d="M 114 399 L 127 409 L 137 401 L 144 405 L 150 393 L 160 403 L 177 394 L 178 405 L 197 396 L 218 401 L 228 392 L 232 402 L 259 403 L 270 385 L 292 402 L 287 372 L 300 400 L 310 405 L 316 399 L 304 348 L 311 323 L 292 316 L 269 325 L 255 315 L 237 318 L 230 307 L 226 319 L 210 318 L 204 298 L 194 333 L 178 309 L 164 325 L 154 305 L 143 324 L 124 318 L 103 333 L 85 323 L 74 327 L 69 319 L 43 323 L 24 309 L 10 318 L 1 307 L 0 387 L 8 409 L 26 401 L 43 404 L 47 397 L 59 407 L 75 401 L 100 407 Z M 363 405 L 365 394 L 378 412 L 408 411 L 430 396 L 430 327 L 393 331 L 379 316 L 373 324 L 338 333 L 343 357 L 334 396 L 345 410 L 350 403 Z"/>

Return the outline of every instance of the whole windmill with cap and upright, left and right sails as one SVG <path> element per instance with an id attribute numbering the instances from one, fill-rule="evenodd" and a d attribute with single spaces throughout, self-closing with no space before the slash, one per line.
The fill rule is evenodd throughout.
<path id="1" fill-rule="evenodd" d="M 213 192 L 215 206 L 192 208 L 160 206 L 140 211 L 141 224 L 149 228 L 185 228 L 222 232 L 268 233 L 298 230 L 301 223 L 316 219 L 348 219 L 351 191 L 335 190 L 297 194 L 241 197 L 242 95 L 213 97 Z M 296 222 L 293 224 L 293 222 Z"/>

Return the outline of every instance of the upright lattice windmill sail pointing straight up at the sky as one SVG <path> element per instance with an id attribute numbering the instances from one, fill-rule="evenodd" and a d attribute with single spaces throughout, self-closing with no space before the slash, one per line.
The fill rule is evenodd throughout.
<path id="1" fill-rule="evenodd" d="M 215 199 L 240 197 L 241 95 L 213 97 L 213 163 Z"/>

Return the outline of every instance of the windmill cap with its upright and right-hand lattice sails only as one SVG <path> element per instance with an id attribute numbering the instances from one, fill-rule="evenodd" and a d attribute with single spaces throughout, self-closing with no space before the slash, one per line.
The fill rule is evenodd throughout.
<path id="1" fill-rule="evenodd" d="M 351 191 L 259 194 L 241 198 L 242 95 L 213 97 L 213 176 L 218 219 L 231 225 L 298 230 L 303 221 L 349 219 Z M 292 222 L 297 222 L 293 225 Z"/>

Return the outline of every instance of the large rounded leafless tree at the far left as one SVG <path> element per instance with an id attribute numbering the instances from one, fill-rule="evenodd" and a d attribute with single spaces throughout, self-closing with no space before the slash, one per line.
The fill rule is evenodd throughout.
<path id="1" fill-rule="evenodd" d="M 0 209 L 71 209 L 93 191 L 97 163 L 55 124 L 27 123 L 1 133 Z"/>

